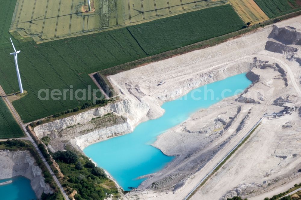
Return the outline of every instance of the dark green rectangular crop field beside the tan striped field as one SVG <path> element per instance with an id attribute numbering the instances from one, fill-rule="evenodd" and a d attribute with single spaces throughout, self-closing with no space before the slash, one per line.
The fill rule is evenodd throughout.
<path id="1" fill-rule="evenodd" d="M 129 26 L 127 29 L 142 49 L 152 55 L 234 32 L 243 26 L 244 22 L 232 6 L 224 5 Z"/>

